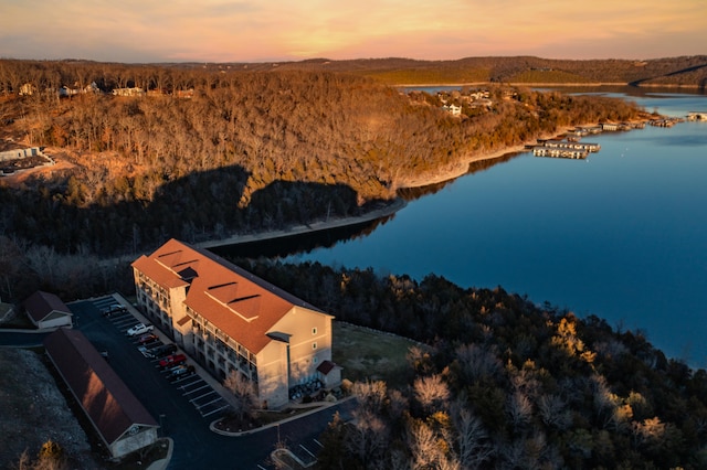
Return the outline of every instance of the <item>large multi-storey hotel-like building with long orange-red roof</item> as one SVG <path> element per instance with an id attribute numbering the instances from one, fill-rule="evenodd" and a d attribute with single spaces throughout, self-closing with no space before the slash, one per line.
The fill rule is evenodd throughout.
<path id="1" fill-rule="evenodd" d="M 337 382 L 320 367 L 331 361 L 330 314 L 176 239 L 133 270 L 141 310 L 218 378 L 250 378 L 263 407 L 286 405 L 296 385 Z"/>

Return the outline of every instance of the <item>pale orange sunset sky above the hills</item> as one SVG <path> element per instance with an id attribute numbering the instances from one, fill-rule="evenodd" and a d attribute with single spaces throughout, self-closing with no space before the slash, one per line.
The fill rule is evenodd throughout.
<path id="1" fill-rule="evenodd" d="M 707 54 L 707 0 L 0 0 L 0 57 L 271 62 Z"/>

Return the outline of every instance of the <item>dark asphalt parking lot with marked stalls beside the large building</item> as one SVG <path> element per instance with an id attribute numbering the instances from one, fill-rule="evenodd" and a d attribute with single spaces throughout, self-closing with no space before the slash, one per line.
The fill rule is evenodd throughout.
<path id="1" fill-rule="evenodd" d="M 285 442 L 300 460 L 310 462 L 320 448 L 317 439 L 333 414 L 350 413 L 351 403 L 341 403 L 326 412 L 247 436 L 233 438 L 215 434 L 209 425 L 229 409 L 215 389 L 218 382 L 188 356 L 177 365 L 161 367 L 160 361 L 183 351 L 172 345 L 173 351 L 161 354 L 160 349 L 173 343 L 157 328 L 129 337 L 129 329 L 147 322 L 127 302 L 117 303 L 116 298 L 106 296 L 68 306 L 76 328 L 105 353 L 113 370 L 158 420 L 160 435 L 172 438 L 169 469 L 270 470 L 275 468 L 270 455 L 277 442 Z M 177 366 L 193 366 L 193 371 L 173 375 Z"/>

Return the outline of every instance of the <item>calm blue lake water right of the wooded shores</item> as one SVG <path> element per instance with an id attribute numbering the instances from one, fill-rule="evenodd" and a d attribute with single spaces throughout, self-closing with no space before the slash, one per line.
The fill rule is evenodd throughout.
<path id="1" fill-rule="evenodd" d="M 631 97 L 685 116 L 707 96 Z M 707 122 L 604 132 L 585 161 L 529 153 L 411 202 L 367 237 L 289 260 L 503 286 L 707 365 Z"/>

